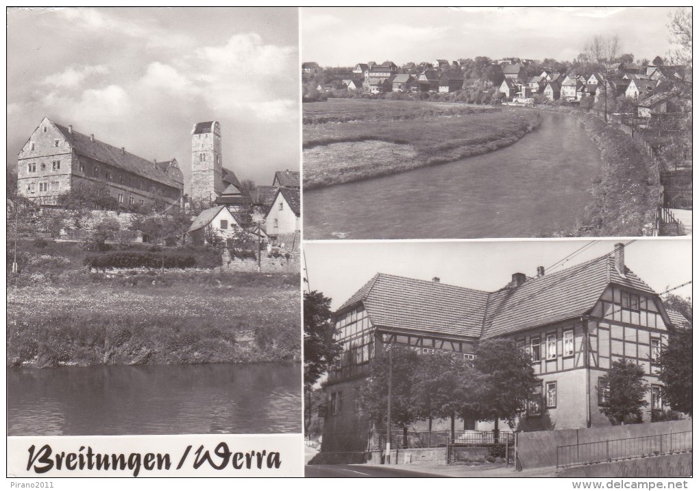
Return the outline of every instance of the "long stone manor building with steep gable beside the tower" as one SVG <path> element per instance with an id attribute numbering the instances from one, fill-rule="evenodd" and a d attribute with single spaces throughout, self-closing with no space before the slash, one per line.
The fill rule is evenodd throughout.
<path id="1" fill-rule="evenodd" d="M 181 204 L 185 177 L 177 160 L 147 160 L 43 118 L 17 157 L 17 192 L 43 205 L 82 183 L 105 183 L 125 209 L 157 201 Z"/>

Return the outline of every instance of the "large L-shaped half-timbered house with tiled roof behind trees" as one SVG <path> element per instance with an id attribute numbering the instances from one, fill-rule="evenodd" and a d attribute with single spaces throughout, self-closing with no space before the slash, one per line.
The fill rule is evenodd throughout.
<path id="1" fill-rule="evenodd" d="M 379 273 L 338 308 L 336 340 L 343 351 L 324 384 L 323 452 L 366 450 L 373 422 L 358 402 L 370 361 L 384 346 L 418 353 L 447 350 L 474 357 L 482 339 L 507 337 L 531 355 L 540 378 L 537 393 L 519 417 L 519 429 L 603 427 L 612 362 L 642 367 L 651 387 L 648 411 L 661 411 L 663 384 L 658 355 L 668 331 L 687 320 L 665 309 L 654 290 L 624 264 L 624 245 L 614 253 L 568 269 L 529 278 L 514 273 L 496 292 Z M 492 423 L 463 422 L 487 430 Z M 505 427 L 502 422 L 500 427 Z"/>

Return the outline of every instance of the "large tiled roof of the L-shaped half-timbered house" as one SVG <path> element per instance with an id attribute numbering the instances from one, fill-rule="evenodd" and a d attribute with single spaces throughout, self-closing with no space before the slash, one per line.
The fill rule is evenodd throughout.
<path id="1" fill-rule="evenodd" d="M 361 301 L 378 327 L 489 338 L 585 315 L 610 283 L 655 294 L 610 255 L 492 293 L 379 273 L 338 312 Z"/>

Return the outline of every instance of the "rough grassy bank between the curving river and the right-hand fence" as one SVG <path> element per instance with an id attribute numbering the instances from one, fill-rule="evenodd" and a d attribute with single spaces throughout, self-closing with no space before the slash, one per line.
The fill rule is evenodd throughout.
<path id="1" fill-rule="evenodd" d="M 661 185 L 655 163 L 615 124 L 578 113 L 600 150 L 603 166 L 592 183 L 592 201 L 563 236 L 651 235 Z"/>

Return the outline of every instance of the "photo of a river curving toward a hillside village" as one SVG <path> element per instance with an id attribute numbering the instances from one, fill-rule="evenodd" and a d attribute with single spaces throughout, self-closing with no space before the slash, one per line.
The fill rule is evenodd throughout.
<path id="1" fill-rule="evenodd" d="M 691 8 L 302 8 L 303 235 L 683 236 Z"/>

